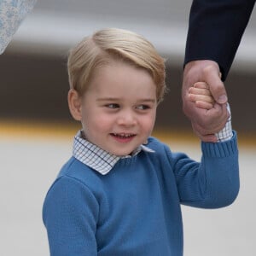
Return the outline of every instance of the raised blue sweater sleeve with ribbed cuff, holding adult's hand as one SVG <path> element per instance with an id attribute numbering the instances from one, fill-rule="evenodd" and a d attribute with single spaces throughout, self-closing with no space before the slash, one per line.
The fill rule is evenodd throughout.
<path id="1" fill-rule="evenodd" d="M 174 174 L 183 205 L 218 208 L 229 206 L 239 191 L 236 132 L 224 143 L 202 143 L 201 163 L 179 156 Z"/>

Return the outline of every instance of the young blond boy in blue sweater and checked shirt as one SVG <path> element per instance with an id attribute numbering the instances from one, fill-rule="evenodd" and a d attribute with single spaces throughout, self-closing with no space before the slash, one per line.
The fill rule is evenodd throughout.
<path id="1" fill-rule="evenodd" d="M 236 132 L 202 142 L 201 163 L 150 137 L 165 64 L 136 33 L 104 29 L 84 38 L 68 73 L 68 104 L 82 130 L 44 201 L 50 255 L 183 255 L 180 205 L 218 208 L 236 199 Z M 207 84 L 195 86 L 191 101 L 207 114 Z"/>

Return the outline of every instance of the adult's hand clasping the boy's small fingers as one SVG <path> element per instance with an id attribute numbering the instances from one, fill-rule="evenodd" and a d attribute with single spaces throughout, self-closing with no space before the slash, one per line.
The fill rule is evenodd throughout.
<path id="1" fill-rule="evenodd" d="M 218 63 L 215 61 L 190 61 L 183 73 L 183 112 L 191 121 L 195 134 L 204 142 L 216 142 L 214 133 L 221 131 L 229 118 L 226 108 L 227 94 L 220 79 Z M 189 87 L 196 82 L 206 82 L 215 104 L 212 109 L 197 108 L 189 100 Z"/>

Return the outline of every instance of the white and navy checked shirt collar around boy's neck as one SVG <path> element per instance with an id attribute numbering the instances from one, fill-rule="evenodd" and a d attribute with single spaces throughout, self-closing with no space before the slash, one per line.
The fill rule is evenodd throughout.
<path id="1" fill-rule="evenodd" d="M 119 159 L 131 158 L 132 156 L 139 154 L 142 150 L 154 153 L 153 149 L 148 148 L 145 145 L 140 145 L 134 150 L 132 155 L 117 156 L 110 154 L 84 139 L 82 131 L 77 133 L 73 141 L 73 157 L 84 163 L 84 165 L 90 166 L 92 169 L 100 172 L 102 175 L 110 172 Z"/>

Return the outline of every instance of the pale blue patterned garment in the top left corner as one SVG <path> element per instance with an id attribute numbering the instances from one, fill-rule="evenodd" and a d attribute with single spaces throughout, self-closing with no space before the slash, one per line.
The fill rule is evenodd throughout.
<path id="1" fill-rule="evenodd" d="M 0 0 L 0 54 L 36 3 L 37 0 Z"/>

